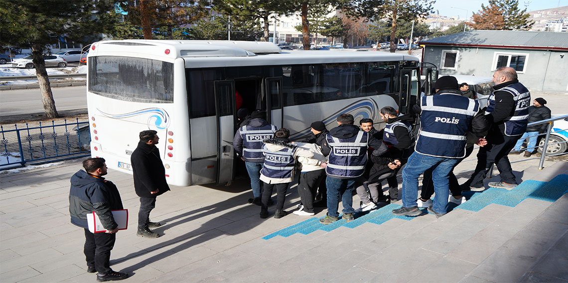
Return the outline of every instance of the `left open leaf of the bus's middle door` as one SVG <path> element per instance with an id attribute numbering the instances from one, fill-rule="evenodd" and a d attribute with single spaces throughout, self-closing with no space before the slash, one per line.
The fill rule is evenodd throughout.
<path id="1" fill-rule="evenodd" d="M 233 180 L 232 146 L 235 135 L 235 81 L 215 81 L 215 112 L 217 126 L 217 180 L 216 184 Z"/>

